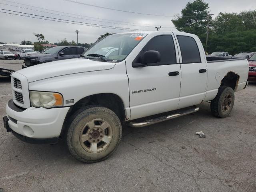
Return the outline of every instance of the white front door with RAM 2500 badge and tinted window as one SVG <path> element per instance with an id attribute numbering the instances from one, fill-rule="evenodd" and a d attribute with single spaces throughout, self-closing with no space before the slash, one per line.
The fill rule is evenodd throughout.
<path id="1" fill-rule="evenodd" d="M 160 52 L 160 62 L 132 67 L 148 50 Z M 170 35 L 152 37 L 134 60 L 126 59 L 131 119 L 175 110 L 179 104 L 181 71 L 178 50 Z"/>

